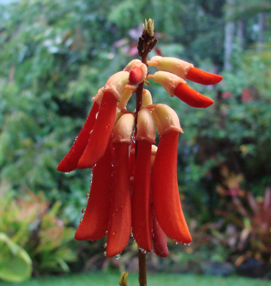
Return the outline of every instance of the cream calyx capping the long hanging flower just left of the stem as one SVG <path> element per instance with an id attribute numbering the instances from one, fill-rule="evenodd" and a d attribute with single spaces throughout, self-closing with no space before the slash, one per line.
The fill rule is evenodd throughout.
<path id="1" fill-rule="evenodd" d="M 121 116 L 112 132 L 113 143 L 131 144 L 131 137 L 134 130 L 135 117 L 131 113 Z"/>

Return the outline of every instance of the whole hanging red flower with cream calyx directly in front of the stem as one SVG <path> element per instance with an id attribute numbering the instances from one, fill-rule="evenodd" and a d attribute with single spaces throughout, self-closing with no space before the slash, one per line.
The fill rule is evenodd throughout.
<path id="1" fill-rule="evenodd" d="M 132 192 L 132 230 L 138 247 L 147 252 L 152 251 L 150 172 L 152 142 L 155 142 L 155 138 L 151 112 L 142 108 L 137 118 L 138 146 Z"/>

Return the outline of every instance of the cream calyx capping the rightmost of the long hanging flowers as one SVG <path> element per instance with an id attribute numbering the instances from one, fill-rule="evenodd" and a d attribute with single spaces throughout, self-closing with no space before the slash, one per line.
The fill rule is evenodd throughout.
<path id="1" fill-rule="evenodd" d="M 170 131 L 182 132 L 180 121 L 176 112 L 166 104 L 157 104 L 152 112 L 159 136 Z"/>

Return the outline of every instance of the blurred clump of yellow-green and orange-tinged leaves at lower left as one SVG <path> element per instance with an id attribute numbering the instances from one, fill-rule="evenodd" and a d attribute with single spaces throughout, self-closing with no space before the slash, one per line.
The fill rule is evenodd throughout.
<path id="1" fill-rule="evenodd" d="M 16 199 L 11 194 L 1 196 L 0 231 L 9 237 L 7 239 L 18 252 L 22 267 L 22 259 L 28 255 L 33 261 L 35 273 L 67 272 L 67 262 L 76 260 L 74 251 L 70 249 L 74 229 L 67 227 L 66 222 L 59 218 L 60 207 L 61 203 L 55 202 L 49 208 L 49 202 L 42 192 L 35 195 L 28 191 Z M 4 258 L 6 264 L 13 263 L 9 256 L 4 255 Z M 29 264 L 29 261 L 26 262 Z M 32 272 L 28 264 L 25 266 L 28 270 L 21 271 L 25 272 L 25 278 Z M 3 269 L 1 265 L 0 269 Z M 18 280 L 21 272 L 18 272 Z"/>

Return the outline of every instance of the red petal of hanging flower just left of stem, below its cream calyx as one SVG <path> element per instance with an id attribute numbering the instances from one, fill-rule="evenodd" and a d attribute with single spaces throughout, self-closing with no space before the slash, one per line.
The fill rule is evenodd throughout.
<path id="1" fill-rule="evenodd" d="M 106 256 L 115 256 L 128 243 L 131 234 L 131 189 L 127 143 L 113 143 L 113 182 L 107 233 Z"/>

